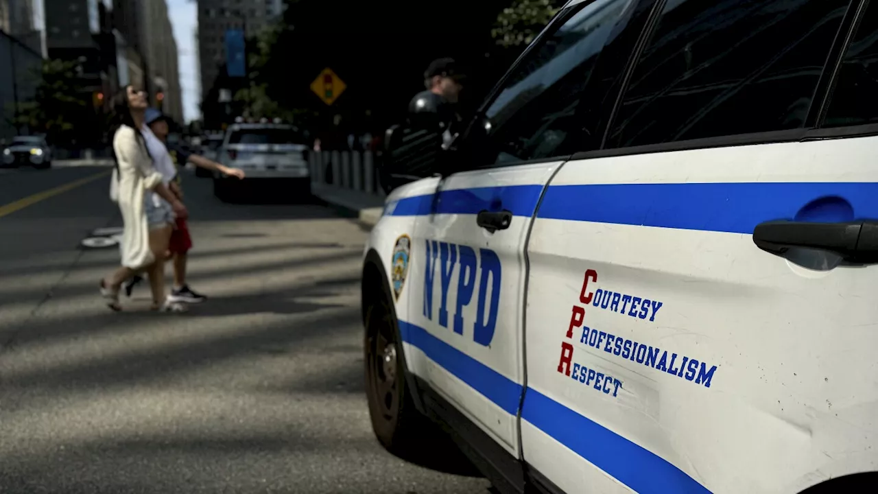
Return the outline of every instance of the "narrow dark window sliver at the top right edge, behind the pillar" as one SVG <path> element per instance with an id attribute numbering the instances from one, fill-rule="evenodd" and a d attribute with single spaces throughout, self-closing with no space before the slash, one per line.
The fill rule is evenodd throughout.
<path id="1" fill-rule="evenodd" d="M 860 18 L 832 91 L 823 127 L 878 123 L 878 2 Z"/>

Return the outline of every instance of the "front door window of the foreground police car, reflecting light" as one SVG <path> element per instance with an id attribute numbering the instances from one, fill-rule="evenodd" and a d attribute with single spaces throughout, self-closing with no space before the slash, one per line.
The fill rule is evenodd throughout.
<path id="1" fill-rule="evenodd" d="M 486 110 L 490 163 L 572 154 L 583 135 L 577 110 L 595 60 L 634 0 L 595 0 L 579 9 L 507 77 Z"/>

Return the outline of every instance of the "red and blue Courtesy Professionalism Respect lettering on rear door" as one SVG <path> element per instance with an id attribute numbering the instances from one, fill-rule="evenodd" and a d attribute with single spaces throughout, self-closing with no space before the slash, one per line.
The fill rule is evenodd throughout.
<path id="1" fill-rule="evenodd" d="M 678 352 L 661 349 L 658 346 L 647 345 L 629 338 L 619 337 L 606 331 L 599 331 L 584 325 L 586 308 L 591 306 L 598 309 L 610 310 L 625 316 L 636 317 L 637 319 L 655 321 L 656 313 L 662 307 L 662 302 L 654 301 L 644 297 L 637 297 L 630 294 L 621 294 L 604 288 L 597 288 L 590 284 L 596 283 L 598 273 L 593 269 L 586 271 L 582 281 L 582 289 L 579 291 L 579 303 L 582 305 L 573 305 L 571 309 L 570 323 L 567 325 L 565 338 L 568 341 L 561 342 L 561 358 L 558 361 L 558 373 L 565 374 L 581 383 L 595 380 L 595 389 L 609 389 L 608 379 L 612 379 L 612 385 L 615 387 L 617 379 L 601 374 L 600 381 L 604 384 L 599 386 L 598 372 L 594 369 L 588 369 L 578 363 L 573 363 L 574 346 L 571 341 L 574 338 L 574 331 L 579 336 L 579 344 L 588 345 L 592 348 L 607 352 L 619 359 L 637 362 L 645 367 L 651 367 L 659 372 L 676 376 L 686 381 L 692 381 L 695 384 L 701 384 L 705 388 L 710 388 L 716 373 L 716 366 L 710 365 L 701 360 L 697 360 L 688 355 L 682 355 Z M 583 369 L 585 368 L 585 371 Z M 583 377 L 585 372 L 585 377 Z M 594 374 L 593 374 L 594 373 Z M 578 377 L 577 377 L 578 376 Z M 618 381 L 621 388 L 622 381 Z M 618 389 L 614 388 L 612 396 L 616 396 Z"/>

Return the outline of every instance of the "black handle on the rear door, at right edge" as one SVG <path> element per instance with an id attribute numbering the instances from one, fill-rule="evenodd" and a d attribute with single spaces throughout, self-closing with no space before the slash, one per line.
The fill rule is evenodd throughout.
<path id="1" fill-rule="evenodd" d="M 805 247 L 835 252 L 854 263 L 875 263 L 878 222 L 764 222 L 753 229 L 753 243 L 778 256 L 790 248 Z"/>

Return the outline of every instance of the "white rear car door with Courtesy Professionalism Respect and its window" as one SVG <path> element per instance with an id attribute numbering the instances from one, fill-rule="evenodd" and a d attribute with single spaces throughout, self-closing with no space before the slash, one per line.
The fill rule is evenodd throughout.
<path id="1" fill-rule="evenodd" d="M 558 171 L 529 243 L 522 444 L 562 490 L 786 493 L 875 469 L 878 266 L 803 248 L 853 250 L 878 217 L 878 137 L 802 142 L 827 132 L 808 129 L 859 4 L 659 3 L 607 149 Z M 874 21 L 831 124 L 878 121 L 856 59 Z"/>

